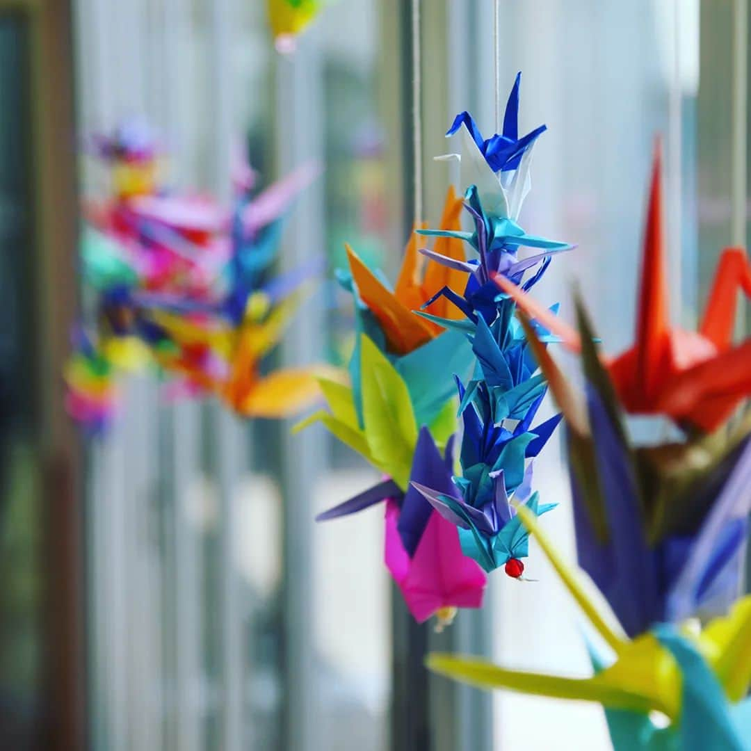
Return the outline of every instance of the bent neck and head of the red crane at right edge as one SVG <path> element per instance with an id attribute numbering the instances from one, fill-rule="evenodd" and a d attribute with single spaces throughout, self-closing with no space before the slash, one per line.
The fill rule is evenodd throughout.
<path id="1" fill-rule="evenodd" d="M 742 248 L 726 248 L 719 258 L 704 320 L 699 329 L 701 335 L 713 342 L 720 351 L 730 346 L 739 288 L 751 297 L 751 264 Z"/>

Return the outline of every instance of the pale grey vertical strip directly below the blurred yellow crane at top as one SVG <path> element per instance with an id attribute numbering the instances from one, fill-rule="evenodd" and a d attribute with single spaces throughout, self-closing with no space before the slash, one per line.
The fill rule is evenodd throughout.
<path id="1" fill-rule="evenodd" d="M 276 172 L 284 174 L 309 158 L 321 158 L 323 138 L 323 70 L 318 29 L 300 41 L 289 58 L 279 57 L 276 68 Z M 282 245 L 282 268 L 309 260 L 311 249 L 324 248 L 323 194 L 311 190 L 300 198 Z M 310 363 L 323 351 L 323 313 L 320 297 L 308 300 L 285 336 L 285 365 Z M 318 427 L 291 436 L 282 425 L 282 495 L 284 499 L 284 669 L 285 706 L 283 747 L 314 751 L 320 747 L 315 722 L 318 695 L 314 672 L 312 488 L 321 467 L 324 438 Z"/>

